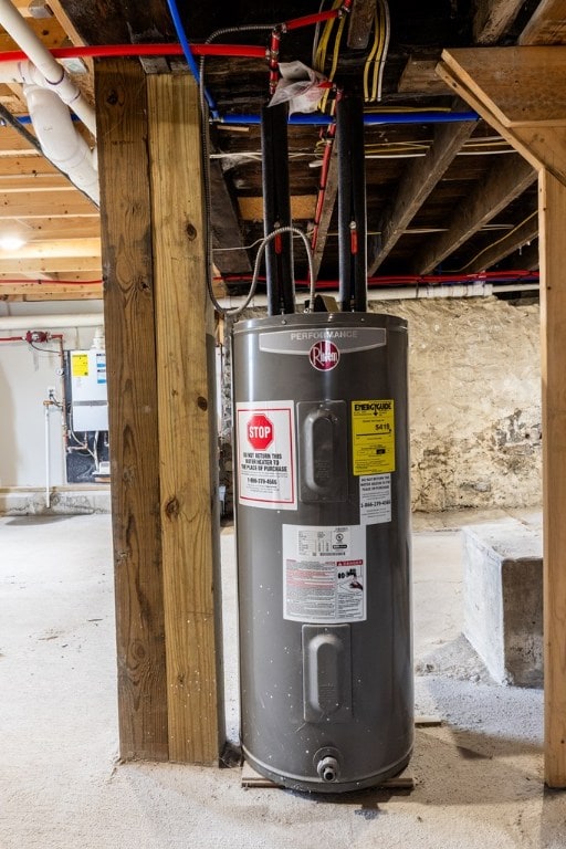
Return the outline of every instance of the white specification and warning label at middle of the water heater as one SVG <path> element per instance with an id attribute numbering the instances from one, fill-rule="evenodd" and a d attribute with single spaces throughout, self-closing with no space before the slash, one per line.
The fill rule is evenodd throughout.
<path id="1" fill-rule="evenodd" d="M 366 528 L 283 525 L 283 618 L 339 625 L 366 619 Z"/>

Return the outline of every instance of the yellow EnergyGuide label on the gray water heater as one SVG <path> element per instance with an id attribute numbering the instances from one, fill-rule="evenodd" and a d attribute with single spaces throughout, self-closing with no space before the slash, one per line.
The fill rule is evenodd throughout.
<path id="1" fill-rule="evenodd" d="M 395 472 L 392 399 L 352 401 L 354 474 Z"/>

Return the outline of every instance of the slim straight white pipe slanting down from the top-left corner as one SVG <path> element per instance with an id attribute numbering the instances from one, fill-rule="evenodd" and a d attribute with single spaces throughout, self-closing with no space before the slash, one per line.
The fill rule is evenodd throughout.
<path id="1" fill-rule="evenodd" d="M 27 82 L 34 82 L 36 85 L 50 88 L 57 93 L 61 99 L 66 103 L 96 136 L 96 114 L 91 104 L 83 97 L 81 90 L 75 85 L 61 65 L 49 52 L 45 45 L 36 38 L 35 33 L 28 27 L 18 9 L 12 6 L 10 0 L 0 0 L 0 24 L 11 35 L 20 49 L 35 65 L 35 72 L 30 72 L 40 78 L 28 78 Z M 24 64 L 24 63 L 22 63 Z"/>

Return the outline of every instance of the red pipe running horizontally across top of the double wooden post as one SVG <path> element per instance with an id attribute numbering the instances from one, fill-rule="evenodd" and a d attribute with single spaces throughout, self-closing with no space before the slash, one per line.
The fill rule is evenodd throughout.
<path id="1" fill-rule="evenodd" d="M 191 44 L 196 56 L 243 56 L 265 59 L 266 49 L 253 44 Z M 55 59 L 107 59 L 109 56 L 181 56 L 180 44 L 88 44 L 80 48 L 54 48 Z M 0 62 L 21 62 L 28 59 L 22 50 L 0 53 Z"/>

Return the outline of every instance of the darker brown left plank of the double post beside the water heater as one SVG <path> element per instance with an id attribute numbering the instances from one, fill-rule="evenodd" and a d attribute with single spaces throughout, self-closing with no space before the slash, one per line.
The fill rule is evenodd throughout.
<path id="1" fill-rule="evenodd" d="M 157 374 L 145 74 L 96 64 L 123 759 L 166 761 Z"/>

